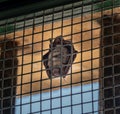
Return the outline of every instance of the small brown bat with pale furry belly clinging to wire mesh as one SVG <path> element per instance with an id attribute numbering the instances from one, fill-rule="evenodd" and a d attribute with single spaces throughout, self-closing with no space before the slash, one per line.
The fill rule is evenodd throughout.
<path id="1" fill-rule="evenodd" d="M 56 37 L 54 42 L 50 41 L 49 52 L 43 56 L 48 77 L 65 78 L 76 58 L 76 53 L 72 42 L 64 40 L 62 36 Z"/>

